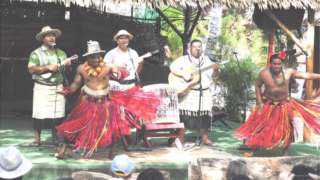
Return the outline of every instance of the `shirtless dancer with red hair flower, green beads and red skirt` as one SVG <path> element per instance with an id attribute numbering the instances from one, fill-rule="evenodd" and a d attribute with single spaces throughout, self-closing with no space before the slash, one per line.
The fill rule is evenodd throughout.
<path id="1" fill-rule="evenodd" d="M 285 58 L 286 54 L 283 52 L 270 57 L 270 67 L 263 69 L 256 78 L 257 106 L 247 121 L 234 132 L 239 138 L 246 140 L 246 145 L 253 147 L 252 152 L 244 154 L 246 157 L 252 157 L 257 148 L 282 145 L 282 156 L 288 156 L 288 147 L 294 142 L 293 116 L 296 115 L 301 116 L 309 130 L 320 134 L 319 101 L 310 103 L 311 101 L 290 98 L 288 95 L 290 78 L 319 80 L 320 75 L 286 68 L 282 65 Z"/>

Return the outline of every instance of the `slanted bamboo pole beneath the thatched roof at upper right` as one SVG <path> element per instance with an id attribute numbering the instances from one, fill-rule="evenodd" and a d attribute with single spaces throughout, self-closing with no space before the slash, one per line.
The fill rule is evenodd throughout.
<path id="1" fill-rule="evenodd" d="M 305 47 L 296 36 L 294 36 L 290 30 L 270 11 L 264 10 L 264 12 L 275 22 L 277 25 L 290 37 L 290 39 L 308 56 L 307 47 Z"/>

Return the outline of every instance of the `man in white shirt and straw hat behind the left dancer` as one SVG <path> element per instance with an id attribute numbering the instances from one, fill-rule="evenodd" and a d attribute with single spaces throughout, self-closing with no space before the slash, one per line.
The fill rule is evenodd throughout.
<path id="1" fill-rule="evenodd" d="M 121 90 L 125 90 L 135 86 L 135 69 L 137 73 L 140 74 L 140 72 L 142 71 L 142 65 L 144 63 L 144 60 L 142 58 L 139 58 L 138 53 L 128 47 L 129 42 L 132 38 L 133 35 L 128 33 L 126 30 L 120 30 L 113 37 L 113 40 L 118 43 L 118 47 L 110 50 L 103 59 L 105 63 L 114 63 L 119 67 L 126 68 L 130 72 L 130 75 L 125 78 L 124 81 L 117 80 L 114 75 L 110 77 L 111 81 L 116 81 L 120 84 L 119 87 Z"/>

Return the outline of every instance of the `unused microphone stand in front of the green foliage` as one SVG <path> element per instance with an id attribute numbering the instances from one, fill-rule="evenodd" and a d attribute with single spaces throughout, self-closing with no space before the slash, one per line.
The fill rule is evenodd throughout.
<path id="1" fill-rule="evenodd" d="M 237 64 L 239 66 L 242 81 L 243 81 L 242 85 L 244 85 L 244 107 L 243 107 L 243 115 L 242 115 L 242 120 L 241 120 L 241 124 L 243 124 L 247 118 L 247 115 L 246 115 L 246 112 L 247 112 L 247 91 L 249 91 L 249 87 L 248 87 L 247 81 L 244 78 L 243 71 L 241 69 L 241 66 L 240 66 L 240 63 L 239 63 L 239 60 L 237 57 L 238 53 L 234 52 L 233 54 L 236 56 Z M 245 139 L 243 139 L 243 145 L 240 145 L 239 147 L 233 147 L 233 149 L 234 150 L 251 150 L 252 148 L 245 145 Z"/>

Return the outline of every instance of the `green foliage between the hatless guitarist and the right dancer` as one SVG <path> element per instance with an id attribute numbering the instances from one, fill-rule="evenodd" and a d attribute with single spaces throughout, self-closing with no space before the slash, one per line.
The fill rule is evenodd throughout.
<path id="1" fill-rule="evenodd" d="M 220 106 L 228 114 L 230 120 L 241 121 L 244 107 L 250 110 L 255 104 L 255 82 L 260 69 L 257 64 L 266 62 L 267 42 L 263 40 L 263 33 L 254 28 L 246 27 L 241 15 L 227 14 L 222 19 L 220 35 L 211 39 L 209 47 L 214 50 L 221 61 L 231 60 L 221 66 L 220 78 L 216 82 L 221 87 L 218 95 Z M 239 64 L 249 91 L 246 92 L 238 62 L 233 51 L 239 51 Z M 264 61 L 262 61 L 264 59 Z M 256 64 L 257 63 L 257 64 Z"/>

